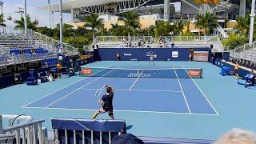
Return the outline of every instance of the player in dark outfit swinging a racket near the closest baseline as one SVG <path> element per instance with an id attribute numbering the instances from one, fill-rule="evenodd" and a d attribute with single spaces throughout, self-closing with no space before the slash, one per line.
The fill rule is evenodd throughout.
<path id="1" fill-rule="evenodd" d="M 102 105 L 102 108 L 97 110 L 92 119 L 95 119 L 98 114 L 109 113 L 110 119 L 114 119 L 113 113 L 113 98 L 114 98 L 114 89 L 110 86 L 106 87 L 106 94 L 102 96 L 102 99 L 99 100 L 99 103 Z"/>

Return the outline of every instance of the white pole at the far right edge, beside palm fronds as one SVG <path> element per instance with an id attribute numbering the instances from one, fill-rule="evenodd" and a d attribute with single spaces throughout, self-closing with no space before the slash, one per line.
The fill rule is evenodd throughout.
<path id="1" fill-rule="evenodd" d="M 253 42 L 254 42 L 254 17 L 255 17 L 255 0 L 252 0 L 251 12 L 250 12 L 250 39 L 249 39 L 250 45 L 253 45 Z"/>

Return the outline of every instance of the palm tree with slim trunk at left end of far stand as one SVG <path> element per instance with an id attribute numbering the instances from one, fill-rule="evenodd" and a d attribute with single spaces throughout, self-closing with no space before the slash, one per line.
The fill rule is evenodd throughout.
<path id="1" fill-rule="evenodd" d="M 86 16 L 86 26 L 91 27 L 93 31 L 93 42 L 95 45 L 95 29 L 100 29 L 103 26 L 103 19 L 99 18 L 98 14 L 90 14 Z"/>

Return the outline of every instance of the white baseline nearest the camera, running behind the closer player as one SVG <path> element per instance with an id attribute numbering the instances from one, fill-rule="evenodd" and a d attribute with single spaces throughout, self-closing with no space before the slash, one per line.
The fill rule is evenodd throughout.
<path id="1" fill-rule="evenodd" d="M 41 109 L 41 110 L 86 110 L 86 111 L 95 111 L 94 109 L 67 109 L 67 108 L 52 108 L 52 107 L 24 107 L 25 109 Z M 134 112 L 134 113 L 151 113 L 151 114 L 186 114 L 186 115 L 210 115 L 216 116 L 217 114 L 190 114 L 182 112 L 163 112 L 163 111 L 141 111 L 141 110 L 114 110 L 115 112 Z"/>

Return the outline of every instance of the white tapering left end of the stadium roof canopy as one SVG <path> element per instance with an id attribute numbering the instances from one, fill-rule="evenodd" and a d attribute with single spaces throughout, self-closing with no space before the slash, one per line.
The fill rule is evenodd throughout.
<path id="1" fill-rule="evenodd" d="M 87 7 L 87 6 L 98 6 L 98 5 L 103 5 L 110 2 L 124 2 L 124 1 L 130 1 L 130 0 L 68 0 L 68 1 L 62 2 L 62 10 L 70 11 L 71 9 L 75 9 L 75 8 L 81 8 L 81 7 Z M 59 3 L 51 4 L 50 6 L 52 11 L 59 10 Z M 49 10 L 49 6 L 39 6 L 38 8 L 41 10 Z"/>

